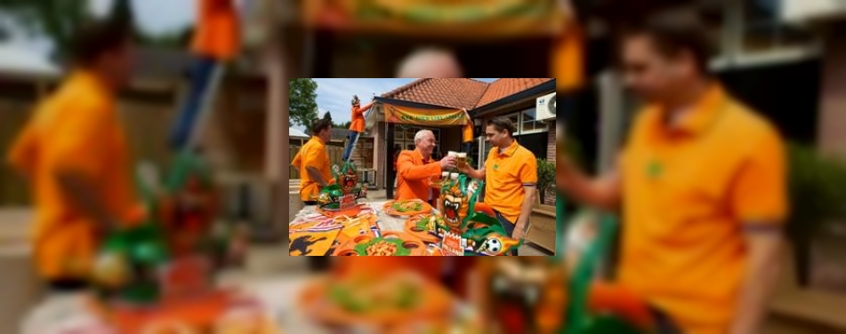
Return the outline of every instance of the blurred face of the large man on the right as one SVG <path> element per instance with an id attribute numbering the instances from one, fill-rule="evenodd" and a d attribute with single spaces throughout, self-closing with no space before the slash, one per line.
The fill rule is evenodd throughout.
<path id="1" fill-rule="evenodd" d="M 648 102 L 672 98 L 696 75 L 692 57 L 680 54 L 668 58 L 659 53 L 649 36 L 630 36 L 623 42 L 625 84 Z"/>

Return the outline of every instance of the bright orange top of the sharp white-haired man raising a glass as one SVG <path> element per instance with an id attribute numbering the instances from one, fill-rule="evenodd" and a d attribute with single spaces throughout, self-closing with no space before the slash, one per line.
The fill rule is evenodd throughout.
<path id="1" fill-rule="evenodd" d="M 433 161 L 433 160 L 430 160 Z M 423 163 L 419 150 L 402 151 L 397 158 L 397 200 L 429 201 L 431 177 L 440 174 L 440 163 Z M 434 198 L 432 194 L 432 198 Z"/>

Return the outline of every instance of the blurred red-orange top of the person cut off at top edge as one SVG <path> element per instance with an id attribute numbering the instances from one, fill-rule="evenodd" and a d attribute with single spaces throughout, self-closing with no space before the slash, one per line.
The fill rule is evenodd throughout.
<path id="1" fill-rule="evenodd" d="M 239 24 L 234 0 L 197 0 L 197 30 L 191 52 L 232 60 L 241 46 Z"/>

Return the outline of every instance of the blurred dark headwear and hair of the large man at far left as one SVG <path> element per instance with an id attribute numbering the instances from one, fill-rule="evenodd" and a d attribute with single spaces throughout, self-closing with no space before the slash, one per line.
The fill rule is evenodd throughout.
<path id="1" fill-rule="evenodd" d="M 133 40 L 133 24 L 120 16 L 86 20 L 70 41 L 70 56 L 77 65 L 87 66 L 104 53 L 115 51 Z"/>

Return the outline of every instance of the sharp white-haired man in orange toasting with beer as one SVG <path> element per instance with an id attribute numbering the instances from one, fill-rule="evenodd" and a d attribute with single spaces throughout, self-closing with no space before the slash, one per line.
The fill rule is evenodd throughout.
<path id="1" fill-rule="evenodd" d="M 421 199 L 433 203 L 434 190 L 431 177 L 441 171 L 455 167 L 455 157 L 447 156 L 439 162 L 431 162 L 435 149 L 435 134 L 430 130 L 417 131 L 415 150 L 402 151 L 397 158 L 397 200 Z"/>

